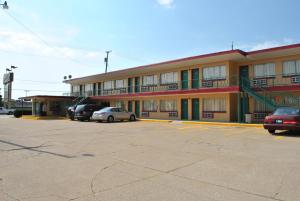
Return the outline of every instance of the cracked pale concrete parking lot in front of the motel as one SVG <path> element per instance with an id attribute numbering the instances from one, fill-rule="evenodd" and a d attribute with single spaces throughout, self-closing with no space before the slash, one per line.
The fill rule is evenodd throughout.
<path id="1" fill-rule="evenodd" d="M 300 200 L 300 134 L 0 119 L 1 201 Z"/>

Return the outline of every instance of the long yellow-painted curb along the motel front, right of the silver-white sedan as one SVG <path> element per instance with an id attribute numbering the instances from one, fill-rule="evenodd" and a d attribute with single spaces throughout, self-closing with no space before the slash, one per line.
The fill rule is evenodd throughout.
<path id="1" fill-rule="evenodd" d="M 159 119 L 140 119 L 140 121 L 147 122 L 180 122 L 183 124 L 200 124 L 200 125 L 211 125 L 211 126 L 232 126 L 232 127 L 252 127 L 252 128 L 263 128 L 262 124 L 243 124 L 243 123 L 223 123 L 223 122 L 204 122 L 204 121 L 173 121 L 173 120 L 159 120 Z"/>

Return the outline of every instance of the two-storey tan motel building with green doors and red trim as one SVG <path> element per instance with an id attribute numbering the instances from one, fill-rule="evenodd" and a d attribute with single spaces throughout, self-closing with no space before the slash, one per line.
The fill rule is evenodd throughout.
<path id="1" fill-rule="evenodd" d="M 64 82 L 77 100 L 122 107 L 139 118 L 244 122 L 251 114 L 252 122 L 261 122 L 278 107 L 300 106 L 300 44 L 223 51 Z"/>

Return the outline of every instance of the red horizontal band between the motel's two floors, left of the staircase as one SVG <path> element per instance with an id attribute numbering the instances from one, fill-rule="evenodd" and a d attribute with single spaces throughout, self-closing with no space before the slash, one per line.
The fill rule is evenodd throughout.
<path id="1" fill-rule="evenodd" d="M 119 98 L 130 98 L 130 97 L 143 97 L 143 96 L 159 96 L 159 95 L 181 95 L 181 94 L 203 94 L 203 93 L 222 93 L 222 92 L 239 92 L 240 87 L 224 87 L 224 88 L 202 88 L 194 90 L 176 90 L 176 91 L 163 91 L 163 92 L 145 92 L 137 94 L 123 94 L 123 95 L 111 95 L 111 96 L 93 96 L 90 97 L 94 100 L 101 99 L 119 99 Z"/>

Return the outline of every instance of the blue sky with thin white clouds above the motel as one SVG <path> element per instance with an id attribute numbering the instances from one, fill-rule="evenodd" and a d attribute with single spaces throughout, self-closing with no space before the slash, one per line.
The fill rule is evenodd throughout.
<path id="1" fill-rule="evenodd" d="M 1 1 L 3 3 L 3 0 Z M 0 79 L 13 98 L 62 95 L 64 76 L 234 48 L 300 43 L 299 0 L 7 0 L 0 9 Z M 3 85 L 0 85 L 3 94 Z"/>

